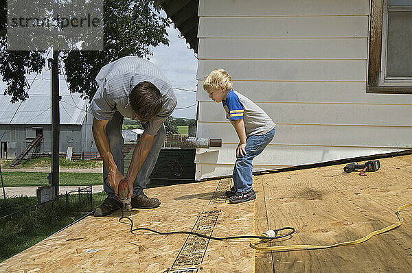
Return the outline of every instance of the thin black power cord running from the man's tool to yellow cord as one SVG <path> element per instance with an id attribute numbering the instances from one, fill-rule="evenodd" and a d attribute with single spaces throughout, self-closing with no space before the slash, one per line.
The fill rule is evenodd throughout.
<path id="1" fill-rule="evenodd" d="M 170 232 L 162 233 L 160 231 L 153 230 L 151 228 L 133 228 L 133 219 L 131 219 L 130 217 L 125 216 L 123 208 L 121 208 L 120 206 L 119 206 L 119 209 L 122 211 L 122 217 L 120 217 L 119 222 L 122 223 L 122 224 L 130 225 L 130 233 L 132 233 L 133 235 L 138 235 L 138 234 L 134 233 L 137 230 L 147 230 L 147 231 L 150 231 L 152 233 L 159 234 L 159 235 L 189 234 L 189 235 L 196 235 L 198 237 L 202 237 L 202 238 L 205 238 L 205 239 L 216 240 L 216 241 L 224 241 L 224 240 L 231 240 L 231 239 L 261 239 L 261 240 L 264 240 L 264 241 L 270 241 L 272 239 L 280 239 L 280 238 L 288 237 L 288 236 L 291 236 L 293 233 L 295 233 L 295 228 L 292 228 L 292 227 L 289 227 L 289 226 L 284 227 L 284 228 L 274 229 L 274 230 L 268 230 L 268 231 L 266 231 L 266 233 L 264 233 L 264 236 L 242 235 L 242 236 L 230 236 L 230 237 L 212 237 L 212 236 L 207 236 L 207 235 L 203 235 L 203 234 L 200 234 L 200 233 L 195 233 L 193 231 L 170 231 Z M 128 219 L 130 221 L 130 223 L 122 222 L 122 219 Z M 282 230 L 291 230 L 291 231 L 289 233 L 286 233 L 286 234 L 283 234 L 283 235 L 278 235 L 278 233 Z"/>

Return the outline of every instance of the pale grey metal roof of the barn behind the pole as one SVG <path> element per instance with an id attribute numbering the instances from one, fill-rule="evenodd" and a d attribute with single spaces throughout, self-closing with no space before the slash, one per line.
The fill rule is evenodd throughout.
<path id="1" fill-rule="evenodd" d="M 43 71 L 37 77 L 28 75 L 29 98 L 24 102 L 10 102 L 11 96 L 0 95 L 0 124 L 51 124 L 52 123 L 52 81 Z M 59 75 L 60 124 L 82 125 L 87 113 L 88 101 L 79 94 L 69 92 L 66 80 Z M 0 80 L 0 92 L 7 84 Z"/>

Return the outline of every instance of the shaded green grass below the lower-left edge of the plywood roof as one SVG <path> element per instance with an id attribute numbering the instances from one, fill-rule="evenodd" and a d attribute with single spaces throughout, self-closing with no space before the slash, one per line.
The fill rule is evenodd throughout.
<path id="1" fill-rule="evenodd" d="M 106 193 L 93 194 L 93 209 L 100 205 Z M 8 198 L 0 202 L 0 216 L 19 211 L 36 203 L 36 198 Z M 70 195 L 69 205 L 65 198 L 38 206 L 36 210 L 27 210 L 12 217 L 0 220 L 0 263 L 15 254 L 30 248 L 39 241 L 56 233 L 91 211 L 89 195 Z"/>

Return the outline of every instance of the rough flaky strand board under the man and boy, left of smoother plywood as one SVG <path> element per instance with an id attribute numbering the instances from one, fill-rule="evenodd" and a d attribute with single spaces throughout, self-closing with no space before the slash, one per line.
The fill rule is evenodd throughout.
<path id="1" fill-rule="evenodd" d="M 131 218 L 135 227 L 159 231 L 195 227 L 200 232 L 209 228 L 216 237 L 253 235 L 253 202 L 240 207 L 222 198 L 230 182 L 148 189 L 146 194 L 159 198 L 162 205 L 133 210 Z M 202 241 L 146 231 L 133 235 L 130 226 L 119 223 L 119 216 L 87 217 L 1 263 L 0 272 L 173 272 L 181 268 L 219 272 L 222 267 L 253 272 L 253 250 L 247 241 Z M 215 222 L 210 221 L 213 217 Z"/>

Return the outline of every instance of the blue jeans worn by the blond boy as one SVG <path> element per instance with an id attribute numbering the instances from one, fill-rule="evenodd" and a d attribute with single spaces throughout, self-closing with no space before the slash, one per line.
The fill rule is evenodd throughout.
<path id="1" fill-rule="evenodd" d="M 253 135 L 246 139 L 246 155 L 236 158 L 233 168 L 233 187 L 240 193 L 247 193 L 252 189 L 252 160 L 263 152 L 264 148 L 275 136 L 275 128 L 266 134 Z"/>

